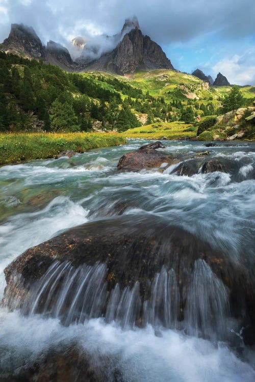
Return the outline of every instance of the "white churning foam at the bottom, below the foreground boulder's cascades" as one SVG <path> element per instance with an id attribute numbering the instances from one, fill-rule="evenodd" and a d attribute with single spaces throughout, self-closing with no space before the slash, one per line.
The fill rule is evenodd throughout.
<path id="1" fill-rule="evenodd" d="M 91 319 L 85 325 L 62 326 L 56 319 L 24 318 L 0 311 L 2 369 L 11 360 L 17 365 L 36 361 L 49 348 L 77 341 L 91 354 L 114 360 L 125 382 L 253 382 L 254 370 L 226 346 L 165 330 L 155 336 L 151 326 L 121 330 L 115 324 Z"/>

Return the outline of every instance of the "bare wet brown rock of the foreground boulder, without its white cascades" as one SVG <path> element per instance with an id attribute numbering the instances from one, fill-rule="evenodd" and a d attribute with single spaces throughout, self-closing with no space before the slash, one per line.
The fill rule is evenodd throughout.
<path id="1" fill-rule="evenodd" d="M 214 244 L 203 241 L 180 227 L 166 225 L 164 220 L 157 216 L 150 215 L 148 218 L 123 215 L 91 222 L 70 229 L 29 249 L 5 269 L 7 287 L 3 305 L 11 309 L 26 307 L 33 294 L 34 285 L 41 285 L 42 278 L 56 261 L 60 266 L 63 264 L 61 272 L 56 274 L 58 277 L 56 282 L 52 279 L 53 286 L 50 283 L 47 284 L 43 293 L 40 294 L 36 310 L 38 313 L 44 312 L 45 306 L 55 309 L 58 305 L 58 295 L 63 284 L 66 284 L 66 272 L 70 271 L 70 266 L 73 269 L 82 269 L 81 267 L 85 265 L 91 266 L 96 272 L 98 267 L 103 266 L 103 279 L 99 285 L 100 296 L 103 297 L 100 297 L 97 310 L 93 311 L 95 313 L 92 315 L 90 311 L 94 309 L 94 303 L 98 301 L 99 296 L 93 301 L 88 300 L 86 309 L 91 307 L 88 312 L 89 317 L 107 316 L 110 295 L 118 285 L 120 293 L 124 293 L 122 301 L 125 301 L 127 293 L 131 293 L 136 288 L 134 293 L 139 294 L 137 298 L 140 305 L 134 308 L 132 314 L 135 315 L 134 322 L 137 325 L 143 325 L 145 318 L 141 307 L 144 306 L 145 301 L 150 301 L 154 293 L 152 290 L 154 280 L 164 267 L 163 274 L 170 272 L 171 269 L 175 274 L 176 286 L 173 287 L 172 293 L 179 295 L 178 305 L 175 308 L 178 310 L 177 319 L 182 321 L 196 261 L 204 261 L 222 282 L 222 288 L 225 286 L 228 291 L 231 316 L 241 325 L 247 326 L 247 330 L 251 328 L 254 333 L 255 285 L 252 279 L 253 270 L 245 254 L 240 255 L 239 261 L 234 261 L 227 251 L 217 249 Z M 95 280 L 98 281 L 101 274 L 96 275 Z M 79 280 L 74 283 L 70 291 L 75 287 L 79 288 L 84 279 Z M 98 285 L 94 284 L 91 293 L 96 288 Z M 48 301 L 48 295 L 52 296 L 50 301 Z M 71 294 L 66 297 L 65 304 L 61 308 L 62 317 L 70 312 L 73 299 L 74 296 Z M 81 307 L 83 306 L 82 301 Z M 122 313 L 125 314 L 125 312 L 126 308 Z M 165 324 L 164 306 L 161 306 L 156 313 Z M 78 312 L 75 317 L 80 319 L 80 313 Z M 248 340 L 254 343 L 255 335 L 254 337 L 249 335 Z"/>

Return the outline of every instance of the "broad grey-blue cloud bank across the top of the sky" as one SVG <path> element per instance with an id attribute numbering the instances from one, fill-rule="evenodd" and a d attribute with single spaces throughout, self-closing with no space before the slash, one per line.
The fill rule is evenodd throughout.
<path id="1" fill-rule="evenodd" d="M 71 33 L 115 34 L 123 20 L 137 15 L 141 28 L 160 44 L 187 41 L 196 35 L 218 31 L 227 38 L 254 32 L 253 0 L 0 0 L 9 22 L 31 24 L 43 39 L 49 32 L 58 39 Z M 247 11 L 248 10 L 248 11 Z M 4 21 L 6 24 L 6 20 Z M 64 31 L 63 31 L 64 28 Z M 3 32 L 1 29 L 1 38 Z"/>

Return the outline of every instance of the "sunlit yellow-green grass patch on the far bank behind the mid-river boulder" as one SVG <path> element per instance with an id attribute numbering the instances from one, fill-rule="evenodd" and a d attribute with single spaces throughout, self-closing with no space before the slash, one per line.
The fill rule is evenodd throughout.
<path id="1" fill-rule="evenodd" d="M 196 137 L 197 127 L 184 122 L 156 122 L 136 127 L 122 133 L 126 138 L 182 139 Z"/>

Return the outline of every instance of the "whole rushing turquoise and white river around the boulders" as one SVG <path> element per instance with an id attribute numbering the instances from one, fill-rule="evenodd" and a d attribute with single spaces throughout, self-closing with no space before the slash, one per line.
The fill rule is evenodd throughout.
<path id="1" fill-rule="evenodd" d="M 210 158 L 235 163 L 234 174 L 177 176 L 169 168 L 138 173 L 116 169 L 126 152 L 147 142 L 91 150 L 71 158 L 35 160 L 0 168 L 0 294 L 4 268 L 27 249 L 65 230 L 123 215 L 157 216 L 226 251 L 234 262 L 245 252 L 255 262 L 255 144 L 221 142 Z M 173 156 L 205 151 L 200 142 L 165 141 Z M 234 327 L 233 327 L 234 328 Z M 228 331 L 234 333 L 231 326 Z M 58 318 L 24 316 L 0 308 L 0 380 L 35 362 L 52 346 L 79 340 L 91 357 L 118 365 L 124 382 L 253 382 L 254 351 L 242 356 L 227 342 L 182 329 L 124 328 L 101 317 L 63 325 Z M 109 361 L 109 362 L 110 362 Z M 111 373 L 110 373 L 111 374 Z M 109 374 L 109 381 L 118 380 Z M 1 379 L 2 376 L 2 379 Z M 112 379 L 111 379 L 112 378 Z"/>

